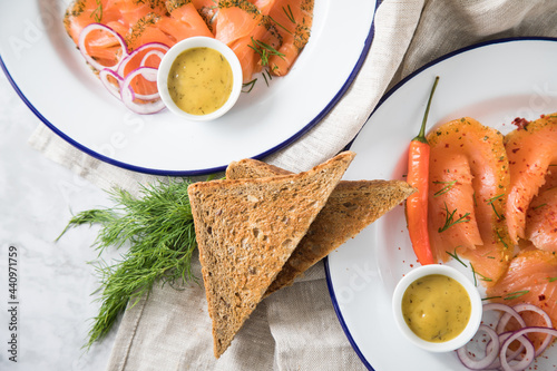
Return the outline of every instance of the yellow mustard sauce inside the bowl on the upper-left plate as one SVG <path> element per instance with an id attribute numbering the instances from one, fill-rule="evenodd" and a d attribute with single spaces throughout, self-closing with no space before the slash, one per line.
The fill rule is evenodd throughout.
<path id="1" fill-rule="evenodd" d="M 173 62 L 168 91 L 182 110 L 190 115 L 207 115 L 226 102 L 233 80 L 231 65 L 221 52 L 211 48 L 192 48 Z"/>

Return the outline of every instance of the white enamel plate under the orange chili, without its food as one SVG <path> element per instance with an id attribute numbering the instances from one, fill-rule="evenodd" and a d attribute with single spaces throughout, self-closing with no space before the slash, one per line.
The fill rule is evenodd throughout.
<path id="1" fill-rule="evenodd" d="M 469 116 L 506 134 L 516 117 L 557 111 L 557 39 L 497 40 L 459 50 L 423 67 L 382 99 L 351 149 L 346 179 L 404 179 L 436 76 L 429 127 Z M 399 333 L 391 310 L 397 282 L 417 266 L 403 207 L 398 206 L 330 254 L 328 283 L 339 320 L 371 370 L 468 370 L 456 352 L 429 353 Z M 472 280 L 471 271 L 452 263 Z M 551 346 L 535 363 L 555 370 Z"/>

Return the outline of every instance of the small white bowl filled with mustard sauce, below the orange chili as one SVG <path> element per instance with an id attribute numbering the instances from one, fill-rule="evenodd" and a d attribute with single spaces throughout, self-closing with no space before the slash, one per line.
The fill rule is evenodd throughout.
<path id="1" fill-rule="evenodd" d="M 416 345 L 448 352 L 473 338 L 481 322 L 480 293 L 460 271 L 441 264 L 413 269 L 397 284 L 394 320 Z"/>

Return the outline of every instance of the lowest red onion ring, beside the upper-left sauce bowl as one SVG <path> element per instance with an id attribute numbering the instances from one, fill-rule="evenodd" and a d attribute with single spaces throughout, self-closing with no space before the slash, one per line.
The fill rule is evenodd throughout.
<path id="1" fill-rule="evenodd" d="M 163 110 L 165 108 L 165 104 L 160 99 L 158 92 L 149 95 L 149 97 L 150 96 L 155 97 L 153 99 L 144 99 L 141 97 L 146 97 L 145 95 L 138 95 L 134 92 L 130 82 L 136 76 L 139 75 L 141 75 L 145 79 L 153 81 L 153 78 L 155 78 L 156 80 L 157 69 L 150 67 L 139 67 L 129 72 L 128 76 L 126 76 L 126 78 L 124 79 L 123 88 L 120 89 L 121 101 L 124 101 L 124 105 L 136 114 L 146 115 L 146 114 L 155 114 Z M 135 99 L 141 99 L 147 101 L 138 104 L 134 101 Z"/>

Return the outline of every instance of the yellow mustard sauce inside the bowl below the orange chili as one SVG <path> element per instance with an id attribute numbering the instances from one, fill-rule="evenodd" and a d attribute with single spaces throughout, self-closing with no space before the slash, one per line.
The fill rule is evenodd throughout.
<path id="1" fill-rule="evenodd" d="M 456 280 L 431 274 L 416 280 L 402 296 L 402 315 L 421 339 L 441 343 L 458 336 L 471 314 L 470 296 Z"/>

